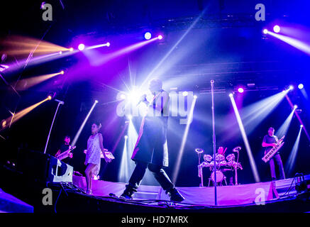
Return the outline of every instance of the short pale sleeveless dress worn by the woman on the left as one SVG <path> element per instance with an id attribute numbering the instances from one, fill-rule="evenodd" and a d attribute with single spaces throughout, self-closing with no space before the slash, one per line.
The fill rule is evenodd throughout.
<path id="1" fill-rule="evenodd" d="M 92 163 L 96 165 L 94 167 L 94 175 L 99 174 L 100 170 L 100 160 L 101 160 L 101 148 L 99 145 L 99 134 L 97 133 L 94 137 L 89 136 L 89 139 L 87 140 L 87 153 L 86 153 L 86 158 L 85 162 Z"/>

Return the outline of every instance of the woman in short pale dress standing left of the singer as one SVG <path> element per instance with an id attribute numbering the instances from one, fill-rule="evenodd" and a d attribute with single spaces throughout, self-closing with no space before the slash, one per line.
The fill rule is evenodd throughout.
<path id="1" fill-rule="evenodd" d="M 87 140 L 87 153 L 84 162 L 87 166 L 85 170 L 87 194 L 92 194 L 92 175 L 98 175 L 99 173 L 101 152 L 104 155 L 104 160 L 106 162 L 111 162 L 111 160 L 106 157 L 106 153 L 104 153 L 102 134 L 98 133 L 100 128 L 101 123 L 93 123 L 92 135 L 90 135 Z"/>

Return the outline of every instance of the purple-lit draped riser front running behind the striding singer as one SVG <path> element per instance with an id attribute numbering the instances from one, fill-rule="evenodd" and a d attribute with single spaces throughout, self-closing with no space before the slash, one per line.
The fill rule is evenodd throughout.
<path id="1" fill-rule="evenodd" d="M 310 175 L 305 176 L 305 180 L 308 179 L 310 179 Z M 84 177 L 74 176 L 73 184 L 82 189 L 86 188 Z M 119 196 L 123 193 L 125 185 L 125 183 L 94 180 L 92 182 L 93 195 L 109 196 L 109 194 L 115 194 Z M 293 178 L 277 180 L 275 182 L 216 187 L 217 205 L 245 206 L 265 204 L 268 201 L 277 201 L 281 197 L 296 195 L 297 192 L 294 187 L 295 182 Z M 214 187 L 177 187 L 177 189 L 185 198 L 179 205 L 214 206 Z M 133 200 L 137 201 L 145 199 L 169 201 L 169 196 L 165 194 L 161 187 L 157 186 L 140 185 L 138 192 L 134 196 Z"/>

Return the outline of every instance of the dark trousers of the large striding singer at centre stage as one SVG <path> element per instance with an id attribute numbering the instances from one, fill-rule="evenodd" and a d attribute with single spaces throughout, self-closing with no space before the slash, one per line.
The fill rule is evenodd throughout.
<path id="1" fill-rule="evenodd" d="M 135 170 L 133 170 L 131 179 L 129 179 L 128 184 L 129 187 L 135 190 L 138 189 L 140 182 L 142 181 L 143 176 L 145 175 L 146 168 L 148 168 L 150 172 L 153 173 L 155 179 L 157 179 L 157 182 L 160 183 L 160 186 L 166 192 L 169 192 L 170 189 L 173 189 L 175 187 L 175 185 L 172 184 L 169 177 L 167 176 L 165 170 L 162 169 L 161 165 L 154 165 L 138 161 L 135 162 Z"/>

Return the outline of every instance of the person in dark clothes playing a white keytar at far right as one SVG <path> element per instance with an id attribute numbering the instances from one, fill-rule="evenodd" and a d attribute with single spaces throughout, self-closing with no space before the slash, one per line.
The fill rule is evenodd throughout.
<path id="1" fill-rule="evenodd" d="M 270 127 L 268 129 L 268 134 L 264 136 L 262 140 L 262 147 L 265 148 L 265 155 L 279 143 L 279 139 L 277 138 L 275 133 L 275 128 Z M 270 159 L 270 171 L 271 171 L 271 179 L 276 180 L 275 173 L 275 162 L 279 168 L 279 179 L 285 179 L 284 168 L 282 164 L 281 157 L 279 155 L 279 151 Z"/>

